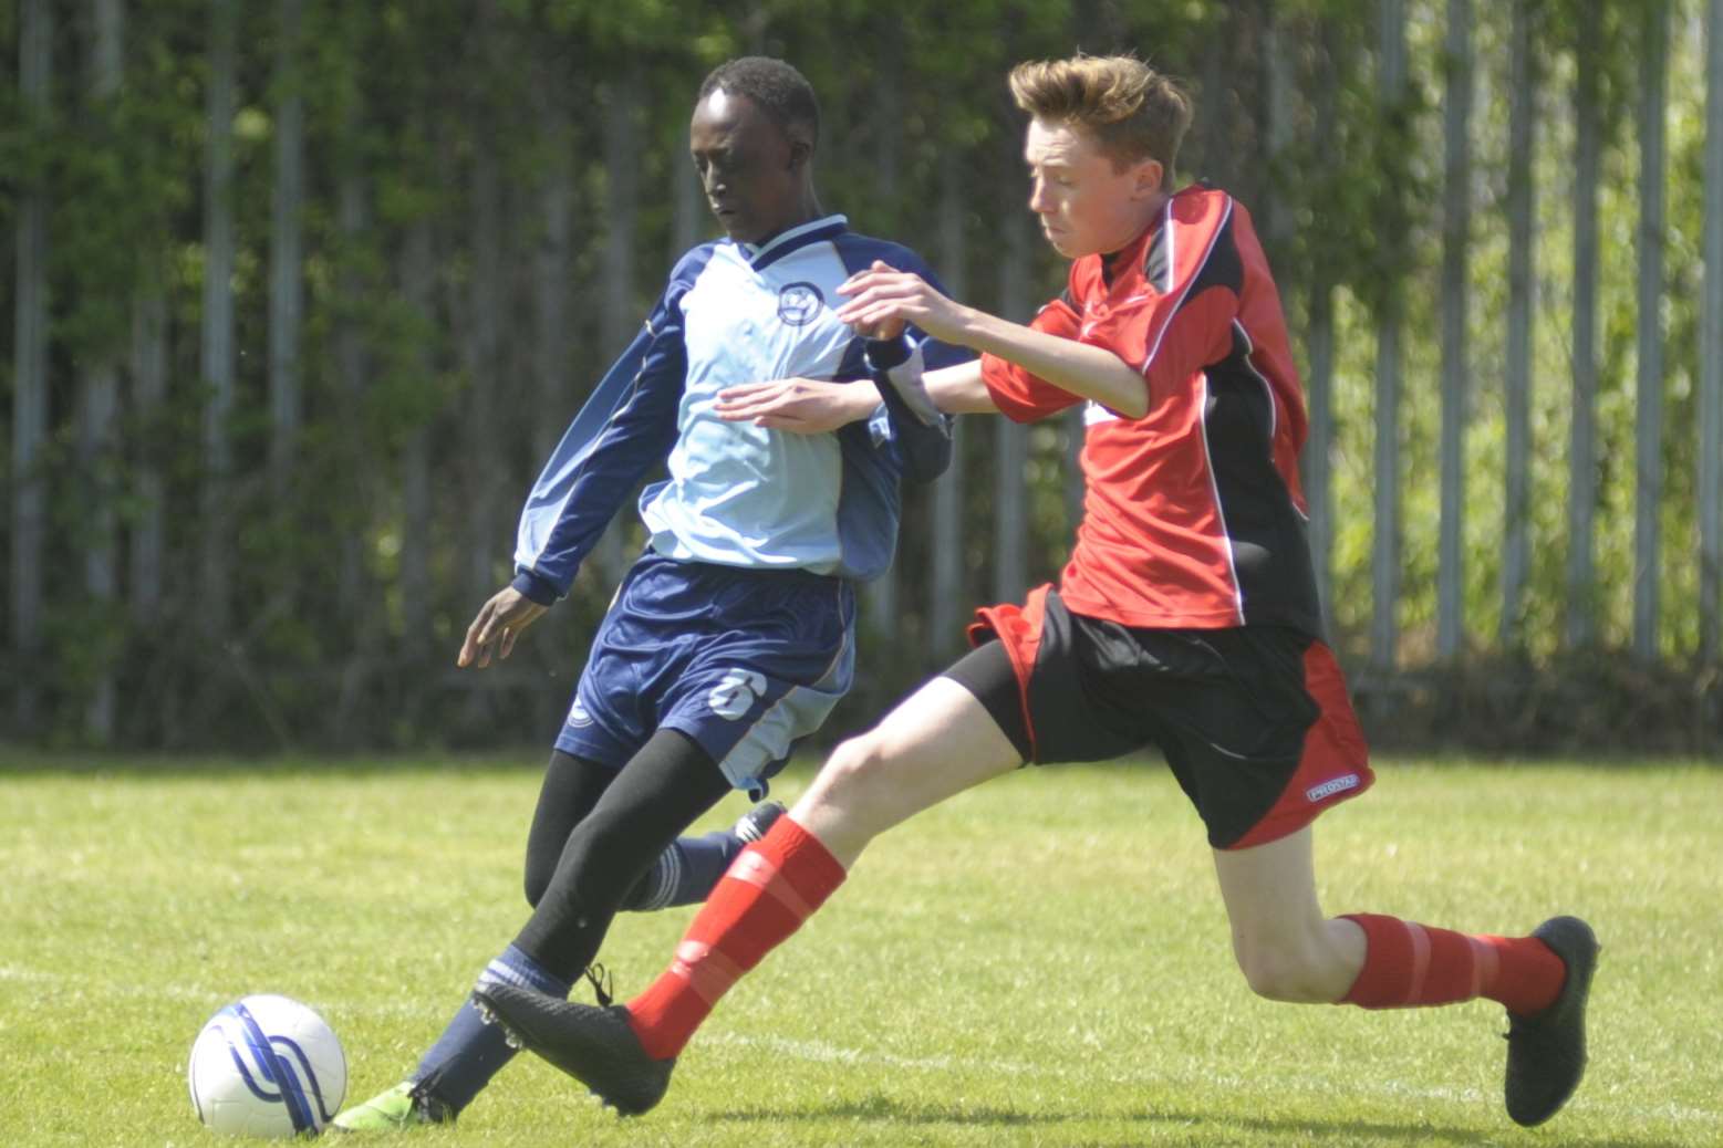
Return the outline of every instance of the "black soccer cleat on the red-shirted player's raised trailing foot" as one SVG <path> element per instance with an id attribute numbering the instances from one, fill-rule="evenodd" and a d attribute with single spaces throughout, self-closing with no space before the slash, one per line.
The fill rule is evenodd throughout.
<path id="1" fill-rule="evenodd" d="M 1551 917 L 1532 931 L 1568 966 L 1561 995 L 1542 1012 L 1508 1014 L 1508 1115 L 1532 1127 L 1561 1110 L 1585 1076 L 1585 1000 L 1597 936 L 1578 917 Z"/>

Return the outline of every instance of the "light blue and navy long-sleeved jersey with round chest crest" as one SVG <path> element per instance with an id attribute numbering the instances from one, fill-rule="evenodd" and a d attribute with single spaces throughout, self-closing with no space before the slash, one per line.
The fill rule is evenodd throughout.
<path id="1" fill-rule="evenodd" d="M 641 496 L 658 554 L 848 578 L 882 573 L 898 539 L 899 477 L 906 461 L 949 456 L 927 449 L 929 437 L 944 446 L 942 422 L 924 425 L 901 403 L 882 403 L 865 423 L 805 435 L 713 413 L 718 391 L 744 382 L 868 379 L 867 341 L 834 308 L 837 286 L 874 260 L 937 282 L 913 251 L 853 234 L 843 215 L 762 246 L 722 239 L 684 255 L 644 330 L 534 484 L 515 587 L 541 602 L 567 594 L 622 499 L 660 463 L 669 477 Z M 970 358 L 934 341 L 924 355 L 929 368 Z"/>

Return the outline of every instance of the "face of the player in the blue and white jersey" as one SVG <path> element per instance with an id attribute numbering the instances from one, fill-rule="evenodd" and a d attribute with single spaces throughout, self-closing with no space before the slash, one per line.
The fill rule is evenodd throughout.
<path id="1" fill-rule="evenodd" d="M 731 239 L 763 243 L 806 215 L 808 151 L 748 96 L 713 91 L 694 107 L 687 150 Z"/>

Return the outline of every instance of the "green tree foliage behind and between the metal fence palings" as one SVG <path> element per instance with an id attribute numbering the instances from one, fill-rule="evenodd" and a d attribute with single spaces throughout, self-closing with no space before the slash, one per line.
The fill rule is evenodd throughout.
<path id="1" fill-rule="evenodd" d="M 820 93 L 825 207 L 858 229 L 936 256 L 946 157 L 960 157 L 968 267 L 982 306 L 999 303 L 1001 219 L 1023 207 L 1020 117 L 1005 89 L 1022 59 L 1132 50 L 1197 88 L 1184 177 L 1235 191 L 1268 234 L 1282 296 L 1304 330 L 1313 291 L 1334 291 L 1337 363 L 1332 473 L 1335 644 L 1361 654 L 1370 626 L 1373 329 L 1385 299 L 1404 308 L 1401 434 L 1404 571 L 1401 664 L 1413 676 L 1434 651 L 1439 430 L 1440 0 L 1408 0 L 1409 84 L 1384 107 L 1375 86 L 1375 3 L 1365 0 L 955 0 L 941 5 L 751 0 L 701 5 L 643 0 L 305 0 L 303 53 L 276 76 L 276 5 L 239 5 L 236 136 L 238 410 L 234 621 L 217 639 L 195 625 L 203 291 L 202 148 L 207 131 L 207 0 L 126 5 L 126 81 L 96 102 L 84 83 L 88 15 L 57 34 L 57 117 L 43 131 L 17 96 L 17 19 L 0 9 L 0 253 L 14 243 L 16 191 L 33 174 L 52 189 L 55 379 L 90 356 L 126 358 L 138 299 L 167 299 L 165 404 L 138 401 L 126 375 L 122 444 L 90 473 L 74 447 L 72 384 L 55 386 L 43 453 L 53 492 L 48 620 L 52 652 L 0 675 L 41 687 L 34 735 L 86 737 L 83 695 L 102 673 L 121 682 L 119 733 L 133 745 L 426 745 L 543 740 L 558 721 L 591 628 L 610 596 L 582 571 L 569 602 L 501 670 L 457 675 L 451 654 L 474 587 L 508 573 L 513 515 L 555 434 L 619 349 L 601 324 L 615 291 L 605 248 L 617 179 L 632 179 L 632 287 L 641 315 L 689 224 L 686 127 L 701 76 L 741 53 L 782 55 Z M 79 9 L 83 10 L 83 9 Z M 1535 5 L 1542 77 L 1533 337 L 1533 570 L 1525 656 L 1559 668 L 1564 447 L 1570 423 L 1571 93 L 1582 0 Z M 1635 332 L 1635 172 L 1639 5 L 1602 3 L 1601 506 L 1597 632 L 1623 649 L 1632 626 Z M 1502 315 L 1506 312 L 1508 5 L 1475 5 L 1473 361 L 1466 484 L 1466 664 L 1494 664 L 1502 530 Z M 1697 301 L 1702 267 L 1704 146 L 1699 0 L 1671 17 L 1666 324 L 1666 499 L 1661 628 L 1664 673 L 1695 657 Z M 1282 55 L 1270 60 L 1265 45 Z M 1270 64 L 1291 103 L 1275 105 Z M 1711 77 L 1714 83 L 1714 77 Z M 305 100 L 303 442 L 291 499 L 269 497 L 267 286 L 274 84 Z M 606 110 L 625 100 L 636 145 L 620 170 L 606 155 Z M 1270 120 L 1285 146 L 1270 155 Z M 572 220 L 565 330 L 534 325 L 534 268 L 551 244 L 546 196 Z M 679 196 L 682 207 L 679 208 Z M 696 238 L 713 227 L 698 200 Z M 679 215 L 681 212 L 681 215 Z M 937 262 L 937 260 L 936 260 Z M 613 267 L 613 265 L 612 265 Z M 1037 251 L 1037 296 L 1063 268 Z M 0 303 L 12 301 L 10 277 Z M 10 313 L 7 306 L 5 313 Z M 0 382 L 10 379 L 10 327 Z M 541 346 L 546 339 L 550 348 Z M 544 355 L 567 394 L 543 394 Z M 560 358 L 557 358 L 560 356 Z M 538 372 L 538 373 L 536 373 Z M 7 408 L 9 410 L 9 408 Z M 992 477 L 984 423 L 961 465 L 970 528 L 968 590 L 991 585 Z M 1070 427 L 1030 437 L 1023 480 L 1030 577 L 1054 577 L 1070 542 Z M 0 444 L 9 451 L 10 439 Z M 0 460 L 3 461 L 3 460 Z M 159 503 L 141 475 L 160 473 Z M 128 539 L 152 506 L 165 511 L 164 599 L 155 614 L 96 611 L 81 594 L 81 523 L 105 501 Z M 641 542 L 624 513 L 622 552 Z M 927 499 L 911 496 L 899 559 L 896 642 L 863 649 L 863 687 L 837 725 L 872 716 L 924 671 L 930 537 Z M 131 589 L 131 587 L 128 587 Z M 9 644 L 10 651 L 10 644 Z M 1647 670 L 1647 673 L 1652 673 Z M 1714 718 L 1714 714 L 1713 714 Z M 19 730 L 17 733 L 22 733 Z M 1714 737 L 1714 731 L 1713 731 Z"/>

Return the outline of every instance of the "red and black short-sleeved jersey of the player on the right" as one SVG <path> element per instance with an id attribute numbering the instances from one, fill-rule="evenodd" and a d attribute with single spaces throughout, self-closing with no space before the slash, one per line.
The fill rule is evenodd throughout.
<path id="1" fill-rule="evenodd" d="M 1037 330 L 1142 372 L 1149 410 L 1085 411 L 1087 482 L 1065 604 L 1129 626 L 1294 626 L 1320 637 L 1297 453 L 1304 399 L 1249 215 L 1196 184 L 1130 246 L 1089 255 Z M 1082 399 L 992 355 L 994 403 L 1032 422 Z"/>

